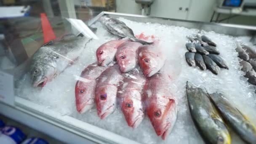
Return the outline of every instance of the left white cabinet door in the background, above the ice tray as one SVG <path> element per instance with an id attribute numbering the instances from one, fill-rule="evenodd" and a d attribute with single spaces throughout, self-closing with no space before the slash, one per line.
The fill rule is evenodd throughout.
<path id="1" fill-rule="evenodd" d="M 186 8 L 189 8 L 189 1 L 190 0 L 155 0 L 151 5 L 150 16 L 186 19 Z"/>

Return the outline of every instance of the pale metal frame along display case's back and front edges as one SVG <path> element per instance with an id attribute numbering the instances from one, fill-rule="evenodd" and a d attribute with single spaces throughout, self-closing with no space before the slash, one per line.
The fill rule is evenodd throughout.
<path id="1" fill-rule="evenodd" d="M 98 16 L 88 21 L 87 24 L 91 25 L 95 23 L 99 17 L 103 15 L 110 15 L 115 18 L 122 16 L 125 19 L 139 22 L 151 22 L 202 29 L 205 31 L 215 31 L 217 33 L 233 36 L 252 35 L 256 33 L 256 27 L 252 26 L 216 24 L 112 12 L 101 12 Z M 67 143 L 137 143 L 136 141 L 77 120 L 68 115 L 61 115 L 42 105 L 32 103 L 20 97 L 16 97 L 15 106 L 0 103 L 0 113 Z"/>

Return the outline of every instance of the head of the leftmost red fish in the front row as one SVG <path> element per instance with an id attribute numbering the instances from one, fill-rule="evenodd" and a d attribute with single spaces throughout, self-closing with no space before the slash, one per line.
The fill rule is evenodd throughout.
<path id="1" fill-rule="evenodd" d="M 83 81 L 77 81 L 75 85 L 75 100 L 76 100 L 77 112 L 81 114 L 93 107 L 95 89 L 92 88 L 91 85 L 94 85 L 94 84 L 84 83 Z"/>

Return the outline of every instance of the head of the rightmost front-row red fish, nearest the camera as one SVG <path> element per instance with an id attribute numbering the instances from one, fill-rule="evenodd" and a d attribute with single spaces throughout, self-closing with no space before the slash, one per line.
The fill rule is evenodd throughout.
<path id="1" fill-rule="evenodd" d="M 154 102 L 150 103 L 147 107 L 149 120 L 151 121 L 157 136 L 166 139 L 176 122 L 177 110 L 175 100 L 169 98 L 165 99 L 167 104 L 157 104 L 156 99 L 153 101 Z M 164 101 L 162 102 L 165 103 Z"/>

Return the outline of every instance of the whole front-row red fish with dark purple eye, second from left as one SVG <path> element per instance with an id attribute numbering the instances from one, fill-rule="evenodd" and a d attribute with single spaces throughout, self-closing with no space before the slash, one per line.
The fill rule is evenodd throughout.
<path id="1" fill-rule="evenodd" d="M 123 75 L 117 64 L 108 67 L 99 76 L 95 88 L 95 101 L 97 113 L 101 119 L 106 118 L 116 108 L 117 86 Z"/>

